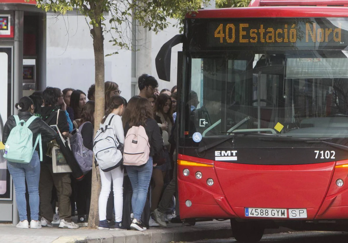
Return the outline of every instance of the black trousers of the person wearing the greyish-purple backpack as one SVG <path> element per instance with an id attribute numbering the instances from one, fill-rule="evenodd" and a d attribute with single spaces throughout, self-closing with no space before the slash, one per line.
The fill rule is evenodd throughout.
<path id="1" fill-rule="evenodd" d="M 92 191 L 92 170 L 82 181 L 75 182 L 77 215 L 88 215 L 90 206 L 90 194 Z"/>

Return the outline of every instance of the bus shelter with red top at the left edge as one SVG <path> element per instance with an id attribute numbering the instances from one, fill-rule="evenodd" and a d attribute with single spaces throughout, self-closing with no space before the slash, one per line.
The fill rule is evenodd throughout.
<path id="1" fill-rule="evenodd" d="M 45 78 L 45 13 L 36 1 L 0 0 L 0 131 L 23 95 L 39 90 Z M 41 82 L 39 82 L 41 81 Z M 18 223 L 15 191 L 0 143 L 0 222 Z"/>

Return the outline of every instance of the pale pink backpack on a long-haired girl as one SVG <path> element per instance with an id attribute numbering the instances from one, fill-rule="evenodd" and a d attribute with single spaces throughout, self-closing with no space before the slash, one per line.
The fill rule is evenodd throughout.
<path id="1" fill-rule="evenodd" d="M 125 137 L 123 164 L 141 166 L 149 160 L 149 137 L 143 126 L 133 126 Z"/>

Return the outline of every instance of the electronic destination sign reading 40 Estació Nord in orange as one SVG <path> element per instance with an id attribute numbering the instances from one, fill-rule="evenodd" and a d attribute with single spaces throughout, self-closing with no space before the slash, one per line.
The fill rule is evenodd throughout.
<path id="1" fill-rule="evenodd" d="M 347 46 L 345 18 L 242 19 L 208 23 L 208 46 Z"/>

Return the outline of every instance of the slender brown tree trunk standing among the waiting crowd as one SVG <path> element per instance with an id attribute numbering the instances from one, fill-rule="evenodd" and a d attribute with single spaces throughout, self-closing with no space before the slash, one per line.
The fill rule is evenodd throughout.
<path id="1" fill-rule="evenodd" d="M 96 14 L 97 15 L 97 14 Z M 104 37 L 101 23 L 91 30 L 93 36 L 94 62 L 95 62 L 95 112 L 94 135 L 99 129 L 99 124 L 104 117 L 105 93 L 104 93 Z M 99 169 L 92 166 L 92 194 L 90 200 L 88 227 L 99 225 L 98 200 L 101 189 Z M 98 174 L 98 175 L 97 175 Z M 98 178 L 97 178 L 98 177 Z M 106 209 L 105 209 L 106 210 Z"/>

